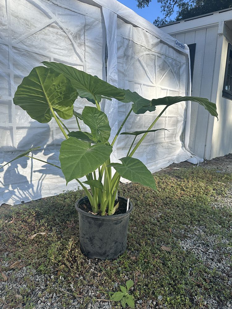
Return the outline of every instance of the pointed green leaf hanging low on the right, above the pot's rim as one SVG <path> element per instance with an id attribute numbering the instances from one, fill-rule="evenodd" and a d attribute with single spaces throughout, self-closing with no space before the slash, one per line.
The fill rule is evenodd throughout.
<path id="1" fill-rule="evenodd" d="M 156 183 L 152 173 L 139 159 L 125 157 L 120 159 L 120 163 L 110 163 L 109 166 L 114 167 L 120 176 L 133 182 L 157 190 Z"/>

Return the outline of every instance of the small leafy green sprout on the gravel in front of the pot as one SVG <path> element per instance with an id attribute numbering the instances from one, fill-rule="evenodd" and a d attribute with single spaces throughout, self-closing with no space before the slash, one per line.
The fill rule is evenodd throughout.
<path id="1" fill-rule="evenodd" d="M 110 300 L 113 300 L 114 302 L 121 302 L 122 307 L 126 308 L 126 304 L 130 308 L 135 308 L 135 300 L 132 295 L 129 294 L 130 288 L 134 285 L 134 281 L 127 280 L 126 282 L 126 288 L 125 286 L 120 286 L 121 292 L 109 292 Z"/>

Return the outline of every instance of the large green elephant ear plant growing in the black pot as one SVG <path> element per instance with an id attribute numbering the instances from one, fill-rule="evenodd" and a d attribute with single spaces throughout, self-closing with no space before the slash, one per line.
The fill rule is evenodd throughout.
<path id="1" fill-rule="evenodd" d="M 64 141 L 60 148 L 60 166 L 52 165 L 61 168 L 67 183 L 71 180 L 78 182 L 88 197 L 92 214 L 98 216 L 109 217 L 115 212 L 117 214 L 120 203 L 117 201 L 115 203 L 115 199 L 120 177 L 157 190 L 151 172 L 139 159 L 133 158 L 133 155 L 146 135 L 156 131 L 153 126 L 170 105 L 182 101 L 195 101 L 203 105 L 211 115 L 217 117 L 216 105 L 208 99 L 168 96 L 148 100 L 136 92 L 114 87 L 96 76 L 71 66 L 46 61 L 43 64 L 45 66 L 35 67 L 23 79 L 15 92 L 14 104 L 19 105 L 32 119 L 41 123 L 47 123 L 54 118 L 64 135 Z M 78 96 L 87 99 L 96 107 L 85 106 L 82 114 L 75 112 L 73 104 Z M 107 115 L 101 111 L 100 102 L 102 99 L 111 100 L 112 98 L 125 104 L 132 103 L 132 107 L 110 143 L 111 128 Z M 163 105 L 164 108 L 147 130 L 121 132 L 132 111 L 135 114 L 152 112 L 158 105 Z M 76 119 L 77 130 L 70 132 L 62 120 L 71 117 Z M 81 130 L 79 120 L 89 127 L 91 133 Z M 111 163 L 110 154 L 119 134 L 131 134 L 134 139 L 127 155 L 119 158 L 121 163 Z M 22 156 L 32 158 L 28 153 L 34 149 L 29 149 L 15 159 Z M 37 158 L 33 157 L 33 159 Z M 114 174 L 112 167 L 115 170 Z M 84 176 L 87 180 L 81 182 L 79 179 Z M 85 185 L 90 186 L 91 192 Z"/>

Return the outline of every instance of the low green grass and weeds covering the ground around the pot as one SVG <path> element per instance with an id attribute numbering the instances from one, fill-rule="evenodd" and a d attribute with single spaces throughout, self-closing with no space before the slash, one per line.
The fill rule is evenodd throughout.
<path id="1" fill-rule="evenodd" d="M 232 295 L 226 281 L 220 280 L 217 270 L 210 270 L 191 252 L 183 251 L 179 242 L 184 237 L 181 230 L 191 231 L 194 226 L 205 226 L 219 239 L 231 239 L 227 227 L 232 213 L 226 207 L 215 209 L 211 203 L 226 194 L 232 176 L 191 167 L 156 173 L 155 180 L 158 193 L 139 184 L 120 186 L 119 195 L 130 197 L 134 205 L 127 251 L 117 260 L 92 261 L 96 273 L 91 272 L 88 258 L 79 248 L 74 204 L 84 196 L 83 191 L 67 192 L 3 211 L 0 235 L 5 247 L 0 258 L 9 252 L 5 259 L 10 265 L 22 260 L 42 273 L 55 275 L 54 281 L 59 283 L 62 276 L 67 290 L 71 284 L 75 289 L 90 285 L 104 294 L 113 290 L 114 282 L 125 285 L 128 279 L 135 280 L 135 303 L 143 300 L 137 308 L 146 308 L 147 301 L 156 301 L 154 307 L 165 304 L 168 309 L 204 308 L 203 301 L 207 298 L 217 300 L 218 305 L 226 304 Z M 39 232 L 49 234 L 29 238 Z M 171 252 L 161 250 L 162 245 L 170 247 Z M 52 287 L 48 291 L 54 293 Z M 70 293 L 73 294 L 71 290 Z M 72 294 L 64 293 L 64 302 L 67 300 L 64 307 L 68 307 L 70 297 L 75 297 Z M 24 291 L 25 295 L 29 297 L 30 291 Z M 158 296 L 162 299 L 158 300 Z M 108 298 L 106 294 L 105 298 Z M 88 303 L 90 299 L 85 301 Z M 116 303 L 113 308 L 117 306 L 120 308 Z"/>

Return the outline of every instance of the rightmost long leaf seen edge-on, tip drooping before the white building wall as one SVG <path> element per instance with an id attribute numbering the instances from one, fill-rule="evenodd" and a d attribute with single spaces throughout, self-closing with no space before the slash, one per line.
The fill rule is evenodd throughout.
<path id="1" fill-rule="evenodd" d="M 157 105 L 173 105 L 175 103 L 178 102 L 182 102 L 182 101 L 193 101 L 193 102 L 197 102 L 200 105 L 204 106 L 204 108 L 210 112 L 210 114 L 212 116 L 217 117 L 217 107 L 216 104 L 213 102 L 210 102 L 208 99 L 205 98 L 199 98 L 199 97 L 191 97 L 191 96 L 185 96 L 185 97 L 181 97 L 181 96 L 177 96 L 177 97 L 171 97 L 171 96 L 167 96 L 164 98 L 159 98 L 159 99 L 152 99 L 151 100 L 151 105 L 153 106 L 157 106 Z M 217 118 L 218 119 L 218 118 Z"/>

